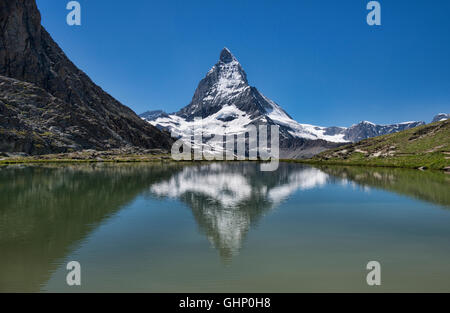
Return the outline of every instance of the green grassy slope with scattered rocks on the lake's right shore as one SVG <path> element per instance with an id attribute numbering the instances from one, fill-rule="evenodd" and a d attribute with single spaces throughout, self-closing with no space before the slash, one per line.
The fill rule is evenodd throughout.
<path id="1" fill-rule="evenodd" d="M 449 169 L 450 120 L 325 151 L 310 162 Z"/>

